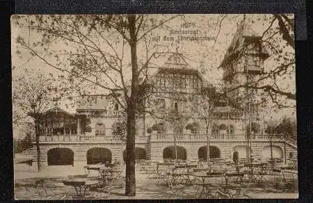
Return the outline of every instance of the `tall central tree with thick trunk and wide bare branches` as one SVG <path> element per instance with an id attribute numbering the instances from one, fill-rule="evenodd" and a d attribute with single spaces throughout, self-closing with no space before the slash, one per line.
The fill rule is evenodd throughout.
<path id="1" fill-rule="evenodd" d="M 85 87 L 81 88 L 82 95 L 111 93 L 127 113 L 128 196 L 136 195 L 134 145 L 140 85 L 145 83 L 150 60 L 158 52 L 158 46 L 151 43 L 151 32 L 178 16 L 158 20 L 150 15 L 13 17 L 26 33 L 40 35 L 40 40 L 33 43 L 29 43 L 31 34 L 17 36 L 13 40 L 19 49 L 29 50 L 33 57 L 62 72 L 68 81 L 80 83 Z M 137 47 L 141 44 L 146 55 L 138 60 Z M 123 92 L 123 97 L 118 97 L 118 91 Z"/>

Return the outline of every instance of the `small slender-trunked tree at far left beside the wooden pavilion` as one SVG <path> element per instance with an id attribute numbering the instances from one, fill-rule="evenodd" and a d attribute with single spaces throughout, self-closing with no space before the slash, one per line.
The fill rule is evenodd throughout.
<path id="1" fill-rule="evenodd" d="M 13 77 L 13 129 L 29 125 L 35 127 L 38 172 L 41 169 L 38 122 L 40 115 L 47 111 L 56 97 L 57 90 L 54 86 L 53 79 L 42 73 L 33 74 L 29 70 Z"/>

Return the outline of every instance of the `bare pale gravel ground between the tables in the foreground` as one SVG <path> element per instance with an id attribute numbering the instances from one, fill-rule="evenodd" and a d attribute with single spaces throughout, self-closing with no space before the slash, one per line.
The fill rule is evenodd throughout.
<path id="1" fill-rule="evenodd" d="M 64 168 L 49 168 L 42 172 L 36 172 L 34 168 L 27 165 L 19 165 L 15 167 L 15 199 L 16 200 L 47 200 L 49 197 L 62 194 L 74 194 L 74 187 L 64 186 L 63 180 L 67 178 L 68 174 L 83 174 L 83 170 L 77 170 L 71 167 Z M 35 181 L 38 179 L 45 179 L 45 189 L 35 186 Z M 277 188 L 273 184 L 271 178 L 266 178 L 266 184 L 244 184 L 243 193 L 252 198 L 298 198 L 298 193 L 294 191 L 286 191 Z M 195 186 L 187 186 L 184 189 L 184 194 L 172 193 L 166 185 L 157 184 L 157 179 L 148 179 L 146 174 L 136 172 L 136 197 L 126 197 L 125 182 L 120 179 L 113 184 L 111 195 L 109 199 L 139 199 L 139 200 L 162 200 L 162 199 L 194 199 Z M 265 189 L 264 189 L 265 188 Z M 95 193 L 91 193 L 95 195 Z M 101 194 L 98 194 L 100 195 Z"/>

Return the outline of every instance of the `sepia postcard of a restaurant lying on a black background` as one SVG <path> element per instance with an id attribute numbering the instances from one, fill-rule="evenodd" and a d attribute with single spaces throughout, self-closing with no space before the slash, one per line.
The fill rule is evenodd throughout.
<path id="1" fill-rule="evenodd" d="M 293 14 L 13 15 L 16 200 L 298 198 Z"/>

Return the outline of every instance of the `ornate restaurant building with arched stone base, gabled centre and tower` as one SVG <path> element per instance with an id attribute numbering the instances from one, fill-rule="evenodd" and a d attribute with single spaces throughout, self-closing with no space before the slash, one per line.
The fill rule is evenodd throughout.
<path id="1" fill-rule="evenodd" d="M 262 131 L 264 126 L 255 105 L 259 92 L 236 88 L 262 74 L 269 55 L 259 40 L 260 36 L 244 25 L 234 35 L 220 65 L 227 88 L 235 89 L 227 95 L 214 90 L 198 70 L 188 66 L 182 54 L 169 56 L 148 80 L 152 88 L 144 101 L 147 113 L 136 120 L 136 159 L 206 160 L 208 141 L 210 159 L 230 159 L 235 150 L 244 159 L 248 149 L 252 149 L 255 159 L 268 159 L 270 154 L 280 159 L 290 153 L 296 156 L 296 140 Z M 242 54 L 243 49 L 248 52 Z M 246 94 L 247 103 L 236 101 Z M 61 108 L 47 111 L 40 122 L 42 165 L 123 161 L 123 112 L 112 95 L 83 97 L 74 114 Z M 248 114 L 249 127 L 253 126 L 250 133 Z M 25 153 L 33 153 L 36 160 L 34 149 Z"/>

